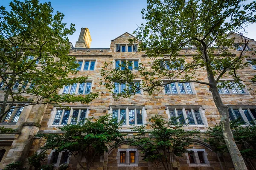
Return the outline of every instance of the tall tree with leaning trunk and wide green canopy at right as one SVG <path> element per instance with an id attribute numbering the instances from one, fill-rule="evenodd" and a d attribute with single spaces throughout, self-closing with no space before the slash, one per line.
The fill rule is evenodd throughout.
<path id="1" fill-rule="evenodd" d="M 109 63 L 102 69 L 105 86 L 109 89 L 114 87 L 113 82 L 127 83 L 134 91 L 143 89 L 148 94 L 161 91 L 164 85 L 173 82 L 208 85 L 221 116 L 221 129 L 236 170 L 246 170 L 247 167 L 233 140 L 228 108 L 222 102 L 218 88 L 232 88 L 234 83 L 242 88 L 240 81 L 256 80 L 255 76 L 251 80 L 243 79 L 238 72 L 249 64 L 244 62 L 244 53 L 250 55 L 246 51 L 248 39 L 243 36 L 244 30 L 247 24 L 256 22 L 256 2 L 244 4 L 244 1 L 148 0 L 147 8 L 142 10 L 146 22 L 134 33 L 141 40 L 139 51 L 145 51 L 145 57 L 152 62 L 140 65 L 139 76 L 127 68 L 123 71 L 112 69 Z M 232 55 L 230 49 L 234 49 L 234 39 L 227 39 L 227 31 L 237 31 L 241 35 L 239 55 Z M 197 54 L 185 63 L 186 57 L 179 55 L 182 47 L 195 47 Z M 198 79 L 201 74 L 207 74 L 206 81 Z M 221 82 L 220 79 L 227 75 L 235 81 Z M 141 87 L 133 85 L 136 78 L 142 79 Z M 130 96 L 130 92 L 127 90 L 116 96 Z"/>

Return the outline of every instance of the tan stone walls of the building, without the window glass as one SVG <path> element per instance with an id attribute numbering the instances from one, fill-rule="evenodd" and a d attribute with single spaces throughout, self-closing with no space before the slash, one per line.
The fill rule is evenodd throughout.
<path id="1" fill-rule="evenodd" d="M 239 36 L 231 33 L 230 38 L 235 37 L 236 42 L 239 42 Z M 203 84 L 190 83 L 191 92 L 189 88 L 184 87 L 185 94 L 182 94 L 179 90 L 179 86 L 176 84 L 177 94 L 166 94 L 165 91 L 161 91 L 159 94 L 149 96 L 147 92 L 141 91 L 140 94 L 132 95 L 130 98 L 114 99 L 113 94 L 109 92 L 104 86 L 100 85 L 102 77 L 100 70 L 104 66 L 105 62 L 115 63 L 117 60 L 128 60 L 138 62 L 150 62 L 150 59 L 145 57 L 143 52 L 136 52 L 136 45 L 130 47 L 128 39 L 134 38 L 131 34 L 125 33 L 111 40 L 110 48 L 90 48 L 90 33 L 87 28 L 81 29 L 79 40 L 76 42 L 75 48 L 70 49 L 70 55 L 75 56 L 81 63 L 81 71 L 76 75 L 70 77 L 88 76 L 88 82 L 91 83 L 90 91 L 98 92 L 99 97 L 89 104 L 69 104 L 64 105 L 70 106 L 73 110 L 80 109 L 79 115 L 81 116 L 82 110 L 86 110 L 85 117 L 99 117 L 106 113 L 113 113 L 113 111 L 125 110 L 126 115 L 130 110 L 141 110 L 142 111 L 142 122 L 143 124 L 148 122 L 148 119 L 155 114 L 162 115 L 163 117 L 169 118 L 170 111 L 182 111 L 186 116 L 186 111 L 191 111 L 196 125 L 189 125 L 184 127 L 187 130 L 201 130 L 201 136 L 204 138 L 204 133 L 208 127 L 213 127 L 220 121 L 220 116 L 213 102 L 209 87 Z M 256 42 L 250 40 L 250 48 L 256 49 Z M 116 48 L 120 48 L 120 51 L 116 52 Z M 122 52 L 133 51 L 133 52 Z M 186 56 L 186 61 L 192 60 L 192 55 L 197 52 L 190 48 L 183 48 L 180 54 Z M 217 54 L 217 52 L 216 52 Z M 239 55 L 240 51 L 233 50 L 233 54 Z M 251 56 L 251 51 L 245 52 L 244 55 Z M 253 59 L 253 57 L 251 58 Z M 94 62 L 94 68 L 92 67 Z M 85 68 L 85 65 L 88 68 Z M 86 66 L 86 67 L 87 67 Z M 85 71 L 84 71 L 85 70 Z M 134 74 L 139 74 L 138 71 L 134 70 Z M 238 74 L 244 79 L 250 79 L 256 74 L 256 70 L 252 67 L 247 67 L 238 71 Z M 207 81 L 207 75 L 204 71 L 199 71 L 195 75 L 198 80 Z M 138 75 L 139 77 L 139 75 Z M 138 79 L 139 81 L 140 79 Z M 227 76 L 223 80 L 232 81 L 232 77 Z M 253 83 L 244 83 L 244 93 L 235 94 L 230 90 L 230 94 L 221 94 L 224 104 L 229 107 L 236 109 L 249 109 L 253 111 L 256 109 L 256 85 Z M 88 85 L 89 87 L 89 85 Z M 119 87 L 121 88 L 121 87 Z M 250 90 L 249 90 L 250 89 Z M 237 89 L 238 90 L 238 89 Z M 60 94 L 64 92 L 64 89 L 60 89 Z M 76 94 L 78 93 L 78 87 L 76 87 Z M 3 94 L 0 94 L 0 99 L 3 99 Z M 25 160 L 28 156 L 33 155 L 35 152 L 40 150 L 40 147 L 45 143 L 45 139 L 35 137 L 35 134 L 43 133 L 60 133 L 58 127 L 61 127 L 61 122 L 55 123 L 57 110 L 60 108 L 54 108 L 52 105 L 38 105 L 29 106 L 23 109 L 20 118 L 17 123 L 6 123 L 2 122 L 0 125 L 5 127 L 11 127 L 19 129 L 17 133 L 12 134 L 0 134 L 0 150 L 6 150 L 0 167 L 3 168 L 6 164 L 13 161 Z M 195 112 L 198 111 L 201 116 L 202 123 L 199 123 L 198 119 L 195 119 Z M 185 112 L 185 113 L 184 113 Z M 70 113 L 71 114 L 71 113 Z M 61 113 L 60 121 L 63 119 L 63 113 Z M 118 113 L 120 116 L 120 113 Z M 244 116 L 244 115 L 243 115 Z M 185 117 L 186 118 L 186 117 Z M 71 118 L 68 118 L 70 122 Z M 126 116 L 128 121 L 128 116 Z M 135 118 L 138 121 L 138 117 Z M 122 132 L 128 133 L 126 138 L 130 138 L 133 133 L 128 129 L 128 124 L 122 127 Z M 195 163 L 190 163 L 188 154 L 184 154 L 183 157 L 177 157 L 175 160 L 175 170 L 221 170 L 224 169 L 232 170 L 232 160 L 228 155 L 218 156 L 212 148 L 202 142 L 201 139 L 195 140 L 195 143 L 191 146 L 194 152 Z M 120 153 L 135 152 L 135 163 L 120 163 Z M 198 152 L 202 152 L 204 157 L 204 163 L 200 163 Z M 48 163 L 52 163 L 54 157 L 54 151 L 48 150 Z M 127 155 L 126 155 L 127 156 Z M 140 152 L 140 147 L 134 147 L 127 144 L 127 141 L 119 144 L 118 148 L 110 149 L 104 156 L 96 158 L 93 162 L 91 169 L 103 170 L 103 167 L 108 167 L 108 170 L 163 170 L 160 162 L 146 162 L 142 160 L 143 154 Z M 59 153 L 56 156 L 55 166 L 58 167 L 64 160 L 64 153 Z M 85 161 L 82 163 L 85 164 Z M 127 158 L 128 159 L 128 158 Z M 77 164 L 76 160 L 72 156 L 68 156 L 65 160 L 70 165 L 70 170 L 80 170 L 81 168 Z"/>

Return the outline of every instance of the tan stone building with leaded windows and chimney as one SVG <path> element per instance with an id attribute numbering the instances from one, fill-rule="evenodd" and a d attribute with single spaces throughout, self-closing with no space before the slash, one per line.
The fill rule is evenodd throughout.
<path id="1" fill-rule="evenodd" d="M 235 37 L 236 43 L 241 41 L 238 34 L 230 33 L 230 38 Z M 35 137 L 36 134 L 60 133 L 58 127 L 69 124 L 73 121 L 73 115 L 78 120 L 94 116 L 95 118 L 111 113 L 118 119 L 125 120 L 122 132 L 128 133 L 126 138 L 133 135 L 128 129 L 129 124 L 143 125 L 148 122 L 151 116 L 156 113 L 166 118 L 170 116 L 182 115 L 184 119 L 189 117 L 187 130 L 197 129 L 201 135 L 207 131 L 208 127 L 213 127 L 220 121 L 220 116 L 213 102 L 211 92 L 207 85 L 197 83 L 172 84 L 167 85 L 165 91 L 152 97 L 144 91 L 138 91 L 135 95 L 125 99 L 113 99 L 113 95 L 104 86 L 100 85 L 100 70 L 105 62 L 113 62 L 114 67 L 122 61 L 132 63 L 129 68 L 137 74 L 137 66 L 140 62 L 150 61 L 144 56 L 143 52 L 137 52 L 138 45 L 130 44 L 128 39 L 134 38 L 133 35 L 125 32 L 124 34 L 111 40 L 110 48 L 90 48 L 91 37 L 88 28 L 81 28 L 79 39 L 75 47 L 70 44 L 70 55 L 77 58 L 79 73 L 70 77 L 88 76 L 87 82 L 70 85 L 60 89 L 60 94 L 88 94 L 99 92 L 99 97 L 89 104 L 64 104 L 70 109 L 55 108 L 52 105 L 27 106 L 22 109 L 11 110 L 0 123 L 1 126 L 19 128 L 17 133 L 0 133 L 0 167 L 13 161 L 24 160 L 40 150 L 45 140 Z M 248 51 L 250 48 L 256 49 L 256 42 L 249 40 Z M 243 46 L 237 44 L 233 54 L 240 54 Z M 183 48 L 180 54 L 186 56 L 186 60 L 192 59 L 192 55 L 197 51 L 193 48 Z M 253 57 L 247 60 L 256 59 Z M 122 68 L 121 68 L 122 69 Z M 239 70 L 239 74 L 245 79 L 250 79 L 256 74 L 256 65 Z M 198 79 L 207 81 L 206 74 L 198 75 Z M 231 77 L 226 77 L 222 81 L 232 81 Z M 140 83 L 140 79 L 135 81 Z M 220 89 L 224 104 L 230 108 L 230 119 L 242 117 L 244 124 L 249 125 L 250 119 L 256 118 L 256 85 L 244 83 L 245 88 L 240 89 Z M 116 93 L 122 91 L 125 85 L 117 84 L 113 89 Z M 251 89 L 249 91 L 249 89 Z M 0 93 L 3 99 L 3 93 Z M 23 103 L 17 103 L 23 105 Z M 9 106 L 12 107 L 12 106 Z M 234 114 L 231 114 L 234 113 Z M 209 144 L 202 140 L 195 140 L 191 154 L 184 154 L 183 157 L 176 158 L 175 167 L 178 170 L 221 170 L 221 167 L 232 170 L 233 163 L 230 157 L 218 157 Z M 56 167 L 60 164 L 68 163 L 70 169 L 80 170 L 76 160 L 68 153 L 56 153 L 48 150 L 47 162 L 54 163 Z M 132 162 L 131 162 L 132 160 Z M 83 161 L 82 161 L 83 162 Z M 126 141 L 119 144 L 118 148 L 113 148 L 93 162 L 91 169 L 102 170 L 103 164 L 108 170 L 162 170 L 163 167 L 156 162 L 146 162 L 142 160 L 142 153 L 139 147 L 132 147 Z"/>

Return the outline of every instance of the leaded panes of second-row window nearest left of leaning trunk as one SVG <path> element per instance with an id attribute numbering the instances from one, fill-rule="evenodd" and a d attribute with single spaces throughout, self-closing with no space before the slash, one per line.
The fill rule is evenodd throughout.
<path id="1" fill-rule="evenodd" d="M 169 108 L 170 117 L 178 117 L 180 123 L 185 123 L 187 118 L 189 125 L 204 125 L 199 109 L 185 108 Z"/>

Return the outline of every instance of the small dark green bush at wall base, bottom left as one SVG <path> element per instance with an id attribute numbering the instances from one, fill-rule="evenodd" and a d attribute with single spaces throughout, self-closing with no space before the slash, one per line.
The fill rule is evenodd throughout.
<path id="1" fill-rule="evenodd" d="M 28 158 L 29 167 L 33 167 L 34 170 L 41 170 L 41 163 L 45 161 L 46 157 L 45 153 L 35 153 Z"/>

